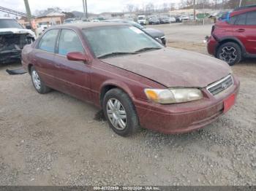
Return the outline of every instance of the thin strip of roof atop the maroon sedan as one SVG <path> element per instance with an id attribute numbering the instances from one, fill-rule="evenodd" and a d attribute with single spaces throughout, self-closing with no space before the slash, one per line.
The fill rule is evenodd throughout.
<path id="1" fill-rule="evenodd" d="M 99 26 L 129 26 L 126 23 L 110 23 L 110 22 L 84 22 L 84 23 L 70 23 L 61 26 L 56 26 L 54 28 L 94 28 Z"/>

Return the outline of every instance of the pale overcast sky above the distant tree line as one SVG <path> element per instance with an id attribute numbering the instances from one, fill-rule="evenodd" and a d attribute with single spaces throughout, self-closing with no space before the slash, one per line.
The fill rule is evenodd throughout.
<path id="1" fill-rule="evenodd" d="M 25 12 L 23 0 L 0 0 L 1 7 L 15 9 Z M 94 13 L 100 12 L 122 12 L 126 4 L 136 4 L 142 7 L 143 4 L 154 3 L 159 6 L 163 3 L 178 3 L 180 0 L 87 0 L 88 11 Z M 83 11 L 82 0 L 29 0 L 32 14 L 37 9 L 47 9 L 48 7 L 60 7 L 64 11 Z M 0 12 L 3 15 L 3 12 Z"/>

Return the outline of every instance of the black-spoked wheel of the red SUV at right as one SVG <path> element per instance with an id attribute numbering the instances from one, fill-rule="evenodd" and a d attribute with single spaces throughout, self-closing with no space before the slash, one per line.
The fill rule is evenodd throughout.
<path id="1" fill-rule="evenodd" d="M 218 47 L 216 56 L 233 66 L 241 61 L 241 47 L 234 42 L 226 42 Z"/>

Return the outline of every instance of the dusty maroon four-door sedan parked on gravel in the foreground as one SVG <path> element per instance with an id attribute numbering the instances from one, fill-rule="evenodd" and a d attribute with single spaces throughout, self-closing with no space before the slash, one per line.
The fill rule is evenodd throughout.
<path id="1" fill-rule="evenodd" d="M 52 88 L 101 107 L 121 136 L 202 128 L 233 106 L 239 88 L 227 63 L 121 23 L 50 28 L 23 49 L 22 63 L 37 92 Z"/>

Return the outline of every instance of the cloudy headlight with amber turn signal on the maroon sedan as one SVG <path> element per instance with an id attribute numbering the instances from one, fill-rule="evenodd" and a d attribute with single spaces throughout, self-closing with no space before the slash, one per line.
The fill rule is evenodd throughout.
<path id="1" fill-rule="evenodd" d="M 174 104 L 195 101 L 203 98 L 197 88 L 145 89 L 149 100 L 159 104 Z"/>

